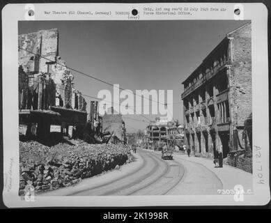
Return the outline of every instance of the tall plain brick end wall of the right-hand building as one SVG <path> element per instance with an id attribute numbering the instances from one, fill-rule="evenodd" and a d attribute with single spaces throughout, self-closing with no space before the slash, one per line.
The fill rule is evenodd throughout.
<path id="1" fill-rule="evenodd" d="M 234 31 L 229 37 L 233 38 L 231 98 L 236 106 L 232 121 L 242 126 L 252 112 L 251 23 Z"/>

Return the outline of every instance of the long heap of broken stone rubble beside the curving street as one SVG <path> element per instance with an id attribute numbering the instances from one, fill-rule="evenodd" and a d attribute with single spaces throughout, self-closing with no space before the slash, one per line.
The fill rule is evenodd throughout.
<path id="1" fill-rule="evenodd" d="M 37 141 L 20 141 L 20 195 L 26 185 L 32 185 L 36 192 L 54 190 L 118 169 L 130 161 L 132 155 L 122 144 L 70 140 L 49 147 Z"/>

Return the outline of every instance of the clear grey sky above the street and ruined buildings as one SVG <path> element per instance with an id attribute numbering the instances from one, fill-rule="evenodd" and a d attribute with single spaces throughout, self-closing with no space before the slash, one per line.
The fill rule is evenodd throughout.
<path id="1" fill-rule="evenodd" d="M 59 56 L 68 67 L 134 92 L 173 90 L 173 119 L 183 123 L 181 83 L 226 33 L 245 23 L 234 20 L 22 21 L 18 24 L 18 34 L 57 28 Z M 108 89 L 113 97 L 112 86 L 77 72 L 72 71 L 72 75 L 76 89 L 83 94 L 97 97 L 100 90 Z M 85 98 L 88 105 L 93 100 Z M 156 116 L 125 115 L 123 120 L 127 132 L 136 132 L 144 130 Z"/>

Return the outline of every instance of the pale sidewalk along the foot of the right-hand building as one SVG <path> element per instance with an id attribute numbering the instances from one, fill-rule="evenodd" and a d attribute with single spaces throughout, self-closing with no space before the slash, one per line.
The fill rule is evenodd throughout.
<path id="1" fill-rule="evenodd" d="M 187 160 L 189 162 L 202 164 L 222 181 L 224 190 L 233 190 L 235 185 L 242 185 L 245 191 L 253 190 L 253 175 L 242 169 L 231 167 L 227 164 L 224 164 L 222 168 L 215 168 L 213 160 L 203 157 L 188 157 L 187 155 L 179 153 L 174 153 L 173 157 L 180 161 Z"/>

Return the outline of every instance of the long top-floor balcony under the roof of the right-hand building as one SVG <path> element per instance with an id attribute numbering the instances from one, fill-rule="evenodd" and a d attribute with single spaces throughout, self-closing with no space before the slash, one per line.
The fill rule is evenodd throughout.
<path id="1" fill-rule="evenodd" d="M 208 72 L 206 72 L 206 74 L 203 75 L 203 77 L 201 77 L 201 79 L 199 79 L 196 83 L 192 84 L 192 86 L 189 86 L 189 88 L 186 89 L 182 93 L 181 98 L 182 99 L 185 98 L 187 95 L 189 95 L 189 93 L 191 93 L 192 91 L 197 89 L 199 86 L 201 86 L 203 83 L 205 83 L 208 79 L 211 79 L 212 77 L 214 77 L 218 72 L 220 72 L 221 70 L 226 68 L 226 65 L 227 65 L 227 61 L 225 61 L 222 64 L 217 64 L 217 66 L 214 66 L 212 68 L 212 70 L 209 70 Z"/>

